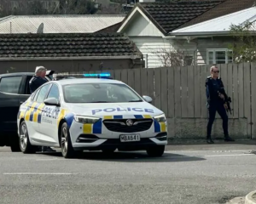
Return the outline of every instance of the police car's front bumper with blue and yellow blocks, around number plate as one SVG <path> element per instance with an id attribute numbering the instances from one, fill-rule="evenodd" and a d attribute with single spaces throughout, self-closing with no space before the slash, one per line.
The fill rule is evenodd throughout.
<path id="1" fill-rule="evenodd" d="M 149 122 L 148 122 L 149 120 Z M 151 120 L 151 121 L 150 121 Z M 166 145 L 168 142 L 167 123 L 144 119 L 137 126 L 126 127 L 104 123 L 82 124 L 73 121 L 69 128 L 74 150 L 127 149 L 145 150 L 148 146 Z M 107 122 L 109 122 L 107 120 Z M 111 121 L 110 121 L 111 123 Z M 125 131 L 125 132 L 123 132 Z M 121 142 L 121 135 L 139 135 L 139 141 Z"/>

